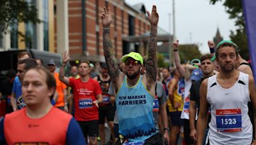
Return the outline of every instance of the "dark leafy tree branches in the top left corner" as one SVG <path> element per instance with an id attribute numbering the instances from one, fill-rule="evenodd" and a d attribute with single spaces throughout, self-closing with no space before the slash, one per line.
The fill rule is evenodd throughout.
<path id="1" fill-rule="evenodd" d="M 1 0 L 0 1 L 0 31 L 8 32 L 10 25 L 18 25 L 20 22 L 42 22 L 38 19 L 38 10 L 34 3 L 25 0 Z M 19 32 L 19 34 L 21 34 Z M 20 35 L 22 36 L 22 35 Z"/>

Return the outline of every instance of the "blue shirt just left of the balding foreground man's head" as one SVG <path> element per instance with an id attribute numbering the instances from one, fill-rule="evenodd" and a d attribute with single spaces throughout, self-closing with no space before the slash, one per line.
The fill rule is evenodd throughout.
<path id="1" fill-rule="evenodd" d="M 26 104 L 22 98 L 21 82 L 20 82 L 18 76 L 16 76 L 13 81 L 12 92 L 15 93 L 15 95 L 16 95 L 17 109 L 22 109 L 23 107 L 25 107 Z"/>

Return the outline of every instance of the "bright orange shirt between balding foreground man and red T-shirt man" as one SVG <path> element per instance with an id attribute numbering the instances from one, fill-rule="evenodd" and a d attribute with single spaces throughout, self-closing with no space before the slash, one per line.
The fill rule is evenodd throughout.
<path id="1" fill-rule="evenodd" d="M 56 101 L 55 107 L 61 107 L 65 105 L 63 90 L 67 86 L 60 81 L 58 72 L 54 72 L 54 78 L 56 80 L 56 92 L 58 93 L 58 100 Z"/>

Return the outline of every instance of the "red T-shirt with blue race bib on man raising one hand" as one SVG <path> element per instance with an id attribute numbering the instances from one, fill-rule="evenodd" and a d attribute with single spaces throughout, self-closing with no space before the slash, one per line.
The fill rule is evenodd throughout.
<path id="1" fill-rule="evenodd" d="M 99 111 L 93 104 L 97 95 L 102 93 L 98 81 L 90 78 L 83 83 L 80 78 L 69 78 L 69 86 L 74 94 L 75 119 L 77 121 L 99 120 Z"/>

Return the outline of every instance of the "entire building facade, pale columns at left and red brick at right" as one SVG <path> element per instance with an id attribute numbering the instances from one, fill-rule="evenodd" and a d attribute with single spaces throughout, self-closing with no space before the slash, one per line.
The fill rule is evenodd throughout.
<path id="1" fill-rule="evenodd" d="M 14 25 L 4 34 L 0 50 L 10 48 L 37 49 L 61 53 L 70 52 L 72 60 L 104 62 L 102 25 L 99 14 L 103 7 L 111 8 L 111 41 L 115 56 L 120 59 L 128 52 L 145 55 L 146 42 L 140 36 L 150 30 L 143 4 L 129 6 L 124 0 L 27 0 L 36 5 L 40 24 Z M 28 36 L 22 41 L 17 31 Z M 130 41 L 135 37 L 136 41 Z"/>

